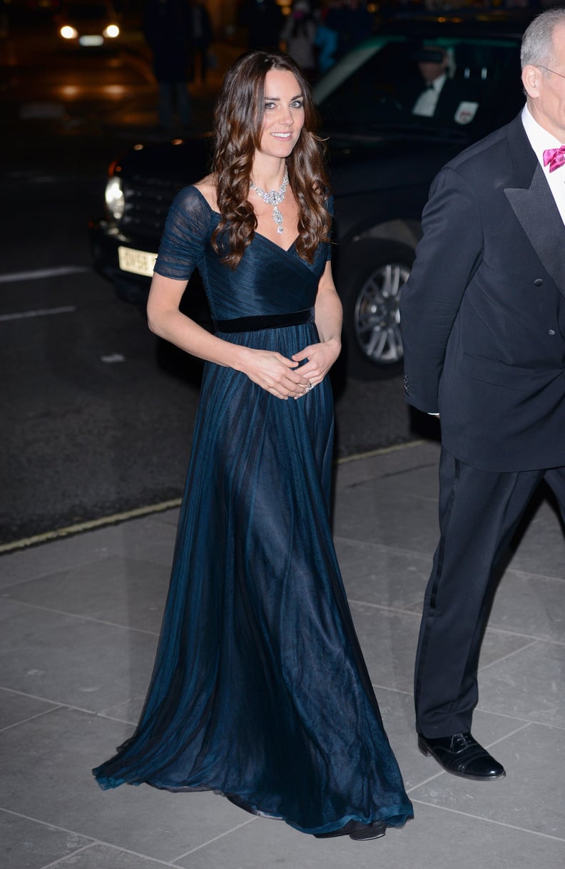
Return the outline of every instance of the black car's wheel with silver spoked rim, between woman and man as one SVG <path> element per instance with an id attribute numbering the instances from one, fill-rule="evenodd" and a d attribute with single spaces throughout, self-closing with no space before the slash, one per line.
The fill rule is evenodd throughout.
<path id="1" fill-rule="evenodd" d="M 392 377 L 402 371 L 400 295 L 414 251 L 399 242 L 357 242 L 342 257 L 337 288 L 349 376 Z"/>

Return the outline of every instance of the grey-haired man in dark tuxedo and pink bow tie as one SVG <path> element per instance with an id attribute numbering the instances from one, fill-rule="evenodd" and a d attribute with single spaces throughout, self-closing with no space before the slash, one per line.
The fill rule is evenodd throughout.
<path id="1" fill-rule="evenodd" d="M 435 178 L 401 302 L 407 401 L 442 427 L 418 745 L 478 780 L 505 774 L 470 733 L 495 580 L 542 480 L 565 519 L 565 9 L 526 30 L 522 83 L 521 114 Z"/>

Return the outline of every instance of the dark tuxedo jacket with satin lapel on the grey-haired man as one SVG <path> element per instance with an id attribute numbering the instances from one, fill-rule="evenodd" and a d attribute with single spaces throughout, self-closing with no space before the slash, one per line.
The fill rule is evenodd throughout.
<path id="1" fill-rule="evenodd" d="M 422 228 L 401 299 L 407 401 L 475 468 L 565 465 L 565 225 L 521 116 L 442 169 Z"/>

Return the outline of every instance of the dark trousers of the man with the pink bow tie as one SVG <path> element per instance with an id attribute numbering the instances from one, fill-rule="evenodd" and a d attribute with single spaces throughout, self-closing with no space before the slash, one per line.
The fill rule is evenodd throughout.
<path id="1" fill-rule="evenodd" d="M 442 449 L 441 536 L 424 597 L 415 664 L 416 729 L 429 739 L 471 729 L 479 652 L 495 582 L 543 479 L 565 521 L 565 467 L 481 471 Z"/>

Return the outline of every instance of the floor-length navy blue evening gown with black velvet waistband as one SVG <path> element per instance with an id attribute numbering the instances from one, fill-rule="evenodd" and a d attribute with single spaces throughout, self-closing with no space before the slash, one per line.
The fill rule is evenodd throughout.
<path id="1" fill-rule="evenodd" d="M 317 342 L 329 244 L 309 264 L 256 233 L 232 270 L 218 219 L 183 189 L 156 272 L 199 269 L 226 341 L 287 357 Z M 206 364 L 155 669 L 135 733 L 94 770 L 103 788 L 213 790 L 304 833 L 412 817 L 336 561 L 332 440 L 327 378 L 283 401 Z"/>

